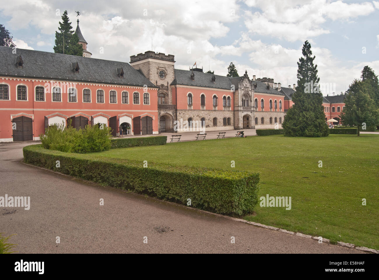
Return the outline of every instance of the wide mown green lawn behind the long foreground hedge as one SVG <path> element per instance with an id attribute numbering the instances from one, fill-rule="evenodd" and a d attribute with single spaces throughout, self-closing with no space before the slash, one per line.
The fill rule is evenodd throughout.
<path id="1" fill-rule="evenodd" d="M 258 171 L 259 196 L 292 197 L 292 209 L 256 207 L 247 220 L 379 249 L 379 135 L 283 135 L 111 149 L 114 157 Z M 318 167 L 318 161 L 323 167 Z M 362 206 L 362 198 L 366 206 Z"/>

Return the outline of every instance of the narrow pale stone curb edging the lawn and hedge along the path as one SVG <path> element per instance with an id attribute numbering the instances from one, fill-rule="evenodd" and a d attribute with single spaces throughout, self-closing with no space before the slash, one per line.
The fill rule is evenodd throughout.
<path id="1" fill-rule="evenodd" d="M 25 163 L 23 161 L 21 161 L 21 162 L 23 164 L 25 164 L 25 165 L 29 165 L 29 166 L 32 166 L 32 167 L 37 167 L 37 168 L 40 168 L 40 169 L 43 169 L 43 170 L 48 170 L 48 171 L 51 171 L 51 172 L 54 172 L 54 173 L 58 173 L 60 175 L 72 177 L 70 175 L 66 175 L 66 174 L 63 174 L 63 173 L 51 170 L 51 169 L 47 169 L 47 168 L 44 168 L 44 167 L 36 166 L 36 165 L 33 165 L 33 164 L 27 164 L 27 163 Z M 79 180 L 84 181 L 84 182 L 90 182 L 90 183 L 97 184 L 96 182 L 92 182 L 92 181 L 88 181 L 88 180 L 83 180 L 81 178 L 77 178 L 77 177 L 73 177 L 73 178 L 79 179 Z M 159 200 L 158 198 L 155 198 L 155 199 Z M 224 218 L 227 218 L 229 220 L 236 221 L 236 222 L 248 223 L 250 225 L 255 225 L 257 227 L 267 228 L 269 230 L 276 230 L 276 231 L 280 231 L 280 232 L 283 232 L 283 233 L 288 233 L 288 234 L 296 235 L 296 236 L 303 237 L 303 238 L 310 238 L 310 239 L 319 240 L 319 237 L 320 237 L 320 236 L 310 236 L 310 235 L 302 234 L 302 233 L 299 233 L 299 232 L 294 233 L 293 231 L 283 230 L 282 228 L 271 227 L 271 226 L 263 225 L 262 223 L 257 223 L 257 222 L 250 222 L 248 220 L 244 220 L 244 219 L 240 219 L 240 218 L 235 218 L 235 217 L 231 217 L 231 216 L 226 216 L 226 215 L 222 215 L 222 214 L 218 214 L 218 213 L 213 213 L 213 212 L 209 212 L 209 211 L 205 211 L 205 210 L 202 210 L 202 209 L 197 209 L 197 208 L 189 207 L 189 206 L 178 204 L 178 203 L 171 202 L 171 201 L 164 201 L 164 202 L 170 203 L 170 204 L 176 204 L 178 206 L 182 206 L 182 207 L 185 207 L 185 208 L 191 208 L 191 209 L 193 209 L 195 211 L 199 211 L 199 212 L 203 212 L 203 213 L 207 213 L 207 214 L 212 214 L 212 215 L 215 215 L 215 216 L 218 216 L 218 217 L 224 217 Z M 322 240 L 323 240 L 322 241 L 323 243 L 330 243 L 330 239 L 323 238 Z M 357 247 L 356 245 L 351 244 L 351 243 L 345 243 L 345 242 L 338 241 L 337 244 L 335 244 L 335 245 L 343 246 L 343 247 L 349 247 L 349 248 L 357 249 L 357 250 L 364 251 L 364 252 L 370 252 L 370 253 L 379 254 L 379 250 L 375 250 L 375 249 L 371 249 L 371 248 L 367 248 L 367 247 L 363 247 L 363 246 Z"/>

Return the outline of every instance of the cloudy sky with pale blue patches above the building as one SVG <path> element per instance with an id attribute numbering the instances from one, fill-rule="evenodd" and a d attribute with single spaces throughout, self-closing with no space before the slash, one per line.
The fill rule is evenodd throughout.
<path id="1" fill-rule="evenodd" d="M 175 68 L 197 62 L 204 71 L 297 82 L 305 40 L 316 55 L 321 83 L 345 92 L 363 66 L 379 74 L 379 0 L 160 0 L 2 2 L 0 23 L 19 48 L 53 52 L 64 10 L 80 28 L 93 58 L 130 61 L 147 50 L 175 55 Z M 103 53 L 100 51 L 103 50 Z M 331 94 L 324 92 L 324 95 Z"/>

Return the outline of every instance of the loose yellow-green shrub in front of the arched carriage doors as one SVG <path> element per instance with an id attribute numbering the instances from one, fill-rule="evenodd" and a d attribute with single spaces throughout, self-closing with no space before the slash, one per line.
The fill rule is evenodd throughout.
<path id="1" fill-rule="evenodd" d="M 45 149 L 67 153 L 100 152 L 111 148 L 110 127 L 96 124 L 86 126 L 84 129 L 75 129 L 64 124 L 49 126 L 45 134 L 39 135 Z"/>

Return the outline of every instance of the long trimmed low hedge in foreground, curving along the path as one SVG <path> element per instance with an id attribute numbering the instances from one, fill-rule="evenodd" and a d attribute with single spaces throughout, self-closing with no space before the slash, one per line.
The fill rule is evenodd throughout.
<path id="1" fill-rule="evenodd" d="M 180 204 L 187 205 L 190 198 L 191 206 L 216 213 L 242 216 L 258 203 L 259 173 L 152 162 L 144 168 L 142 159 L 64 153 L 41 145 L 25 146 L 23 155 L 28 164 Z"/>

